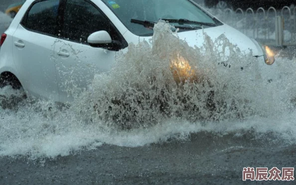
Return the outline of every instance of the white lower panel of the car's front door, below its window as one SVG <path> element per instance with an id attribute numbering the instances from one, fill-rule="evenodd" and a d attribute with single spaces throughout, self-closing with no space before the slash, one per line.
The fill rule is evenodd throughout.
<path id="1" fill-rule="evenodd" d="M 116 51 L 57 39 L 54 47 L 59 101 L 72 101 L 92 83 L 95 74 L 110 71 Z M 69 56 L 59 55 L 60 52 Z"/>

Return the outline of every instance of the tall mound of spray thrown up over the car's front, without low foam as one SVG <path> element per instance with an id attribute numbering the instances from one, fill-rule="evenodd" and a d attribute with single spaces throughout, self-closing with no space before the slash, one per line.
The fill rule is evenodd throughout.
<path id="1" fill-rule="evenodd" d="M 204 34 L 204 46 L 192 48 L 169 24 L 159 22 L 154 30 L 150 41 L 130 45 L 83 95 L 80 103 L 94 111 L 91 120 L 139 128 L 168 118 L 219 121 L 287 111 L 281 92 L 274 92 L 281 84 L 263 79 L 252 53 L 243 55 L 224 35 L 212 41 Z"/>

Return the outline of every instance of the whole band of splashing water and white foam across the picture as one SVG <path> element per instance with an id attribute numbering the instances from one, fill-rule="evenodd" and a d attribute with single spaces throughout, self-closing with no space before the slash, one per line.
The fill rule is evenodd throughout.
<path id="1" fill-rule="evenodd" d="M 242 54 L 224 35 L 204 40 L 201 48 L 189 47 L 159 22 L 150 41 L 130 44 L 70 108 L 43 100 L 0 108 L 0 155 L 54 158 L 104 143 L 186 140 L 201 131 L 273 132 L 295 143 L 295 59 L 278 58 L 281 78 L 270 83 L 252 53 Z"/>

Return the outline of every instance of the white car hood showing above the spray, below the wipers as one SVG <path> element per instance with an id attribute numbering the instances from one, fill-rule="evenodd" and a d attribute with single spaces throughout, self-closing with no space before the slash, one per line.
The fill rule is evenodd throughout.
<path id="1" fill-rule="evenodd" d="M 237 45 L 243 53 L 247 54 L 253 52 L 253 56 L 263 55 L 263 51 L 257 41 L 226 24 L 206 29 L 179 32 L 178 37 L 181 40 L 185 40 L 191 47 L 201 47 L 204 44 L 204 33 L 206 33 L 212 41 L 215 41 L 220 35 L 224 34 L 230 43 Z"/>

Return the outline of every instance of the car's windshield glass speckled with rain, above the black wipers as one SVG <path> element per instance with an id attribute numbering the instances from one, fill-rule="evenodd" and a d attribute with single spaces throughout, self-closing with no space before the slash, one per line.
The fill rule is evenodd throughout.
<path id="1" fill-rule="evenodd" d="M 123 24 L 134 34 L 150 36 L 153 30 L 131 19 L 157 22 L 162 19 L 188 19 L 190 21 L 216 24 L 217 21 L 206 14 L 190 0 L 103 0 Z M 193 23 L 170 22 L 175 26 L 196 26 Z M 204 28 L 207 26 L 203 25 Z M 188 29 L 187 29 L 188 30 Z M 181 30 L 185 31 L 185 30 Z"/>

